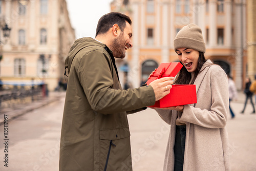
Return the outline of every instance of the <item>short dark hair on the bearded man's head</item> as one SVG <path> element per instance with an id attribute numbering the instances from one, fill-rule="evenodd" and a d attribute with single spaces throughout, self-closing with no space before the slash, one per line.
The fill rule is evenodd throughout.
<path id="1" fill-rule="evenodd" d="M 130 25 L 132 25 L 132 20 L 127 15 L 119 12 L 110 12 L 105 14 L 99 19 L 95 37 L 97 37 L 99 34 L 108 32 L 114 24 L 117 24 L 123 32 L 126 26 L 125 22 L 128 22 Z"/>

